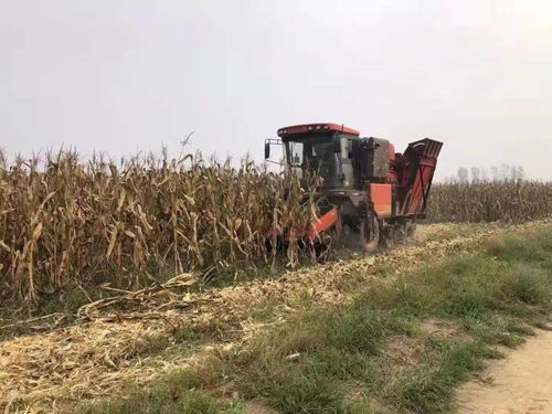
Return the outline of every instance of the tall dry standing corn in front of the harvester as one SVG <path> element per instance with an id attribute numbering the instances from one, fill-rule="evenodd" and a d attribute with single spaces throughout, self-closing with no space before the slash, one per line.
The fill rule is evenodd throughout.
<path id="1" fill-rule="evenodd" d="M 82 162 L 62 151 L 2 161 L 0 299 L 36 302 L 98 275 L 138 288 L 161 269 L 216 274 L 274 263 L 269 235 L 314 219 L 302 200 L 297 178 L 247 159 L 237 168 L 199 155 Z M 288 263 L 298 255 L 291 241 Z"/>

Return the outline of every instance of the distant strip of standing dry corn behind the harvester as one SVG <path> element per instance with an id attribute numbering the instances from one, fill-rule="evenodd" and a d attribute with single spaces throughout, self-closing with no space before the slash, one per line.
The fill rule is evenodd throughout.
<path id="1" fill-rule="evenodd" d="M 520 223 L 552 216 L 552 182 L 480 181 L 435 184 L 427 217 L 437 222 Z"/>

